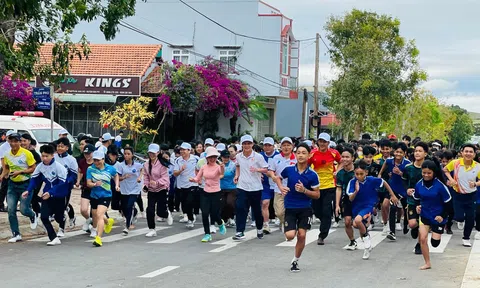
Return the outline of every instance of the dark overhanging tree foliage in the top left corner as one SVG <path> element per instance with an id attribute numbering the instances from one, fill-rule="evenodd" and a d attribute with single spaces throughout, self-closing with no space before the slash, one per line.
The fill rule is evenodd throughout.
<path id="1" fill-rule="evenodd" d="M 0 75 L 12 72 L 14 78 L 36 75 L 60 79 L 69 71 L 73 57 L 88 56 L 85 35 L 74 43 L 70 36 L 81 21 L 101 18 L 100 30 L 106 40 L 118 32 L 117 25 L 135 13 L 136 0 L 4 0 L 0 5 Z M 53 60 L 39 67 L 39 48 L 55 43 Z"/>

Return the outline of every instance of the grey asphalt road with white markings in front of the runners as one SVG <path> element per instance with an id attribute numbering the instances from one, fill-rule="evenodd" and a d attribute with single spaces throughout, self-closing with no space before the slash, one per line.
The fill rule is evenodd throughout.
<path id="1" fill-rule="evenodd" d="M 289 268 L 294 243 L 285 242 L 279 231 L 262 240 L 234 243 L 230 240 L 234 229 L 229 229 L 224 236 L 214 235 L 213 242 L 201 243 L 199 222 L 194 230 L 178 222 L 171 227 L 157 224 L 163 230 L 156 238 L 146 238 L 144 219 L 128 237 L 121 235 L 121 223 L 117 223 L 118 227 L 104 237 L 101 248 L 93 247 L 87 242 L 91 241 L 88 235 L 81 232 L 74 232 L 72 237 L 67 233 L 62 245 L 55 247 L 47 247 L 42 238 L 2 243 L 1 286 L 467 287 L 462 286 L 462 280 L 472 248 L 461 246 L 460 231 L 444 238 L 446 245 L 432 253 L 433 268 L 420 271 L 423 257 L 412 253 L 415 240 L 409 235 L 397 232 L 397 241 L 390 242 L 375 229 L 371 258 L 362 260 L 363 250 L 342 249 L 348 242 L 342 226 L 331 230 L 325 246 L 317 246 L 317 224 L 307 236 L 311 242 L 299 261 L 301 272 L 293 274 Z M 151 241 L 156 243 L 148 243 Z"/>

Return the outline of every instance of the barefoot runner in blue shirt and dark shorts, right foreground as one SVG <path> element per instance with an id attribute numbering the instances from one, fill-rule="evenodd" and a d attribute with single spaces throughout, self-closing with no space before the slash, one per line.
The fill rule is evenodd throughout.
<path id="1" fill-rule="evenodd" d="M 441 177 L 440 166 L 431 160 L 422 164 L 422 180 L 415 185 L 415 190 L 409 193 L 415 200 L 420 201 L 417 212 L 420 214 L 420 246 L 422 249 L 425 265 L 420 270 L 427 270 L 432 267 L 430 263 L 430 252 L 428 250 L 428 232 L 432 231 L 432 247 L 438 247 L 447 223 L 447 216 L 452 209 L 452 196 L 439 179 Z"/>

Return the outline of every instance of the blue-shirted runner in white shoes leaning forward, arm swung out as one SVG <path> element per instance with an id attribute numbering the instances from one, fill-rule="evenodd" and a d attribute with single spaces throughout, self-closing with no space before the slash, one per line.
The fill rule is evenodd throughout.
<path id="1" fill-rule="evenodd" d="M 390 188 L 390 185 L 388 185 L 385 180 L 382 178 L 367 176 L 368 165 L 365 160 L 360 160 L 355 163 L 354 169 L 355 178 L 348 183 L 347 195 L 352 202 L 352 218 L 354 219 L 353 227 L 360 231 L 362 240 L 365 243 L 363 259 L 367 260 L 370 258 L 372 243 L 370 241 L 370 235 L 367 232 L 366 224 L 370 222 L 373 209 L 377 203 L 377 190 L 385 186 L 390 194 L 390 201 L 396 205 L 398 199 Z"/>

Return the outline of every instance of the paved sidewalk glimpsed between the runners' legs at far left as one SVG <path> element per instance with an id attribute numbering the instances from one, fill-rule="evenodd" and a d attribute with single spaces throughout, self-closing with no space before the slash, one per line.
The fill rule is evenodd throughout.
<path id="1" fill-rule="evenodd" d="M 74 230 L 79 230 L 82 228 L 82 225 L 85 223 L 85 218 L 80 214 L 80 195 L 81 191 L 79 189 L 73 189 L 72 190 L 72 196 L 70 198 L 70 204 L 73 206 L 73 210 L 75 210 L 75 216 L 77 217 L 75 227 L 73 228 L 68 228 L 68 218 L 67 218 L 67 223 L 65 225 L 65 231 L 74 231 Z M 146 208 L 146 196 L 143 197 L 143 203 L 145 203 L 145 208 Z M 113 210 L 108 210 L 108 215 L 110 217 L 113 217 L 117 222 L 121 221 L 122 216 L 118 211 L 113 211 Z M 38 226 L 37 229 L 32 230 L 30 229 L 30 220 L 23 216 L 19 211 L 17 212 L 17 217 L 18 217 L 18 223 L 20 226 L 20 233 L 22 234 L 23 239 L 31 239 L 31 238 L 36 238 L 39 236 L 45 236 L 47 233 L 43 228 L 42 221 L 38 219 Z M 117 221 L 117 219 L 119 221 Z M 58 229 L 58 224 L 57 222 L 52 222 L 55 230 Z M 10 225 L 8 223 L 8 213 L 0 213 L 0 244 L 1 243 L 6 243 L 6 239 L 9 239 L 12 237 L 12 232 L 10 231 Z"/>

